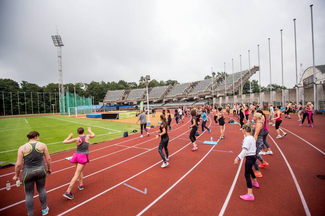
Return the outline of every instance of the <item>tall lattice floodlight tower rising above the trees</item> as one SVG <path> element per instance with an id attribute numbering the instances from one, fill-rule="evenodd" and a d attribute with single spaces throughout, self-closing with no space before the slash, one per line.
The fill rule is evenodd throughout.
<path id="1" fill-rule="evenodd" d="M 63 81 L 62 81 L 62 52 L 61 47 L 64 46 L 61 36 L 58 33 L 58 26 L 57 27 L 57 35 L 52 35 L 52 40 L 54 46 L 57 47 L 58 50 L 58 69 L 59 69 L 59 106 L 60 106 L 60 113 L 61 113 L 61 95 L 64 96 L 63 90 Z M 65 108 L 63 103 L 63 114 L 65 115 Z"/>

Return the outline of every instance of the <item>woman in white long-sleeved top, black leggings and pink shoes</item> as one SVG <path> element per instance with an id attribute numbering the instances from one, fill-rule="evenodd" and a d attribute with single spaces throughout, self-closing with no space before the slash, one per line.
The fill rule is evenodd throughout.
<path id="1" fill-rule="evenodd" d="M 241 143 L 242 150 L 240 154 L 236 157 L 234 161 L 234 165 L 238 164 L 240 160 L 246 157 L 245 160 L 245 178 L 247 185 L 247 194 L 240 196 L 240 199 L 253 201 L 253 187 L 259 188 L 259 184 L 257 183 L 256 176 L 253 172 L 253 164 L 256 161 L 256 146 L 255 139 L 251 136 L 252 125 L 250 123 L 244 124 L 242 126 L 242 133 L 245 135 L 243 142 Z M 252 179 L 251 180 L 251 176 Z"/>

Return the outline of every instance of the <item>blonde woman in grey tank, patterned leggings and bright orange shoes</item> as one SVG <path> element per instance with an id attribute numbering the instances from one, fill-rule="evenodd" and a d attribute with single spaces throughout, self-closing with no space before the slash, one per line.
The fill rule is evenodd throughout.
<path id="1" fill-rule="evenodd" d="M 255 176 L 256 177 L 262 177 L 262 173 L 260 172 L 260 168 L 264 166 L 268 166 L 268 163 L 266 163 L 263 159 L 263 157 L 259 154 L 261 149 L 264 146 L 263 142 L 263 132 L 264 132 L 264 121 L 265 118 L 261 113 L 254 113 L 253 120 L 256 121 L 255 127 L 252 129 L 252 136 L 255 138 L 256 142 L 256 158 L 261 161 L 261 164 L 258 165 L 257 160 L 254 163 L 254 169 L 255 169 Z"/>

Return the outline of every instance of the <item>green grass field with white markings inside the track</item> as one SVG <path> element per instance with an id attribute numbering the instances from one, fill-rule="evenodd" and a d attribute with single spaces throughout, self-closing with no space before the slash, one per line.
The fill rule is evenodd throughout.
<path id="1" fill-rule="evenodd" d="M 90 144 L 122 137 L 124 131 L 138 130 L 138 126 L 135 124 L 62 116 L 0 119 L 0 132 L 3 140 L 3 143 L 0 145 L 0 161 L 16 162 L 17 149 L 28 142 L 26 135 L 30 131 L 40 133 L 40 142 L 44 142 L 47 145 L 49 153 L 76 148 L 75 143 L 63 144 L 62 141 L 70 133 L 73 133 L 74 138 L 77 137 L 77 129 L 79 127 L 85 129 L 85 134 L 89 134 L 87 127 L 91 127 L 91 130 L 96 134 L 96 137 L 91 139 Z"/>

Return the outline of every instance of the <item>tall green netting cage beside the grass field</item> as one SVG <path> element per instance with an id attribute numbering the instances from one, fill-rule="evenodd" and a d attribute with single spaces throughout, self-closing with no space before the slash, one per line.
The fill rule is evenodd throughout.
<path id="1" fill-rule="evenodd" d="M 92 113 L 91 98 L 81 97 L 74 93 L 61 95 L 61 115 Z"/>

